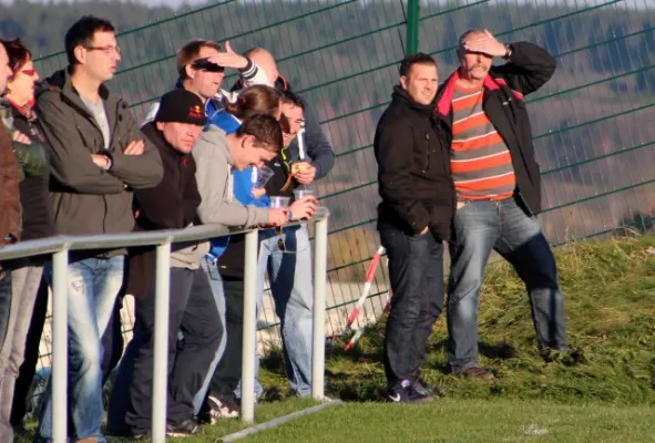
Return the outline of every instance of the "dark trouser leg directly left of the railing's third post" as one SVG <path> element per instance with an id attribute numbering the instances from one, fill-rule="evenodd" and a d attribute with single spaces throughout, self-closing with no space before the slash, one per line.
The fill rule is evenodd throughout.
<path id="1" fill-rule="evenodd" d="M 244 337 L 244 280 L 223 277 L 225 291 L 225 333 L 227 343 L 223 358 L 218 362 L 212 382 L 209 395 L 235 401 L 234 391 L 242 378 L 242 349 Z"/>

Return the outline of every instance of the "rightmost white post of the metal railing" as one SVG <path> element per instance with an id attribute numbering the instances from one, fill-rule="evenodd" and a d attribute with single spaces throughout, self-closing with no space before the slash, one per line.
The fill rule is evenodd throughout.
<path id="1" fill-rule="evenodd" d="M 311 350 L 311 396 L 324 399 L 325 389 L 325 303 L 327 280 L 327 222 L 316 222 L 314 229 L 314 346 Z"/>

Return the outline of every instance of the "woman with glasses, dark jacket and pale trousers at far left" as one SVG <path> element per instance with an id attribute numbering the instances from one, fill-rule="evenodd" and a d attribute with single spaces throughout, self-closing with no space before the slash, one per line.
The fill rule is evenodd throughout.
<path id="1" fill-rule="evenodd" d="M 0 117 L 13 142 L 21 167 L 20 203 L 22 207 L 21 240 L 53 234 L 53 218 L 48 195 L 48 158 L 37 116 L 32 112 L 39 74 L 32 54 L 19 39 L 1 40 L 13 72 L 7 95 L 0 102 Z M 7 336 L 0 349 L 0 441 L 13 441 L 10 414 L 16 379 L 24 358 L 25 337 L 43 271 L 43 258 L 14 260 L 11 269 L 11 302 Z"/>

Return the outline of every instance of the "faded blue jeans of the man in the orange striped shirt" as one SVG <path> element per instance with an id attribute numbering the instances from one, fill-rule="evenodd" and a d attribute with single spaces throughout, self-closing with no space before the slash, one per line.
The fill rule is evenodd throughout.
<path id="1" fill-rule="evenodd" d="M 453 372 L 478 367 L 478 298 L 492 250 L 525 284 L 540 349 L 566 349 L 555 258 L 538 219 L 514 198 L 472 200 L 457 210 L 450 244 L 448 354 Z"/>

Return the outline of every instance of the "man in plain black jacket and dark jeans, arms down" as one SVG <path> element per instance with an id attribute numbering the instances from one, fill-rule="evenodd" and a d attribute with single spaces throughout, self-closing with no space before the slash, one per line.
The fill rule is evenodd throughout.
<path id="1" fill-rule="evenodd" d="M 428 402 L 434 392 L 421 380 L 420 367 L 443 308 L 442 241 L 454 205 L 448 143 L 432 119 L 437 81 L 431 56 L 407 55 L 373 140 L 382 198 L 378 230 L 393 288 L 385 333 L 387 398 L 393 402 Z"/>

